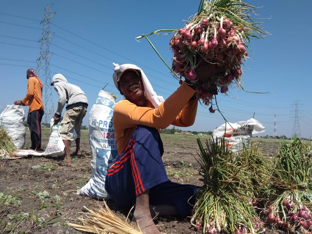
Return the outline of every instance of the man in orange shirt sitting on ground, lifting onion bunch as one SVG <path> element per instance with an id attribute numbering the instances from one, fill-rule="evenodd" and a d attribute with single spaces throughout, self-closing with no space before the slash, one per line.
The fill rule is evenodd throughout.
<path id="1" fill-rule="evenodd" d="M 168 179 L 159 135 L 160 129 L 170 124 L 187 127 L 194 123 L 196 85 L 186 80 L 163 101 L 139 67 L 114 66 L 113 80 L 124 99 L 114 107 L 118 156 L 108 169 L 105 189 L 120 207 L 128 209 L 135 204 L 132 221 L 138 223 L 143 233 L 160 234 L 152 218 L 189 216 L 195 204 L 193 194 L 199 188 Z M 197 77 L 210 78 L 220 71 L 221 68 L 207 65 L 197 71 Z"/>

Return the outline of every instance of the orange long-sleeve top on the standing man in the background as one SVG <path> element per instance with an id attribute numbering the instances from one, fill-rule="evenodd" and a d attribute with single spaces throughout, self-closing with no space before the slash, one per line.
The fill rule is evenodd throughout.
<path id="1" fill-rule="evenodd" d="M 29 112 L 44 110 L 42 102 L 42 83 L 37 76 L 28 78 L 27 94 L 22 99 L 24 105 L 29 106 Z"/>

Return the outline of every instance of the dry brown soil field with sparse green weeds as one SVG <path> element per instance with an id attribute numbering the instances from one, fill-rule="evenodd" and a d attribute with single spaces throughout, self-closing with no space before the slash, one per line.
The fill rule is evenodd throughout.
<path id="1" fill-rule="evenodd" d="M 49 129 L 43 129 L 42 148 L 47 144 L 49 134 Z M 202 185 L 196 161 L 196 138 L 162 135 L 163 162 L 172 181 Z M 202 143 L 207 139 L 204 136 L 200 138 Z M 280 143 L 275 140 L 257 141 L 260 141 L 259 147 L 267 157 L 276 153 Z M 29 144 L 27 130 L 25 148 Z M 71 146 L 71 153 L 74 147 Z M 0 233 L 85 233 L 69 227 L 67 223 L 79 223 L 78 218 L 85 217 L 81 213 L 86 212 L 84 206 L 97 209 L 104 205 L 103 201 L 76 194 L 91 175 L 88 130 L 82 132 L 81 150 L 82 156 L 73 157 L 70 164 L 63 163 L 63 157 L 45 156 L 0 161 Z M 107 204 L 118 217 L 125 219 L 129 211 L 120 209 L 113 201 L 107 201 Z M 161 232 L 167 234 L 197 233 L 189 220 L 161 217 L 155 223 Z"/>

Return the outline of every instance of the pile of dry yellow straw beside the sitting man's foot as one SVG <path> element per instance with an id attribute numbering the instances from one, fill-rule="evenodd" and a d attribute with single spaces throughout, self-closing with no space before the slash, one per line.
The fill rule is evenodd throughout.
<path id="1" fill-rule="evenodd" d="M 84 206 L 85 207 L 85 206 Z M 83 225 L 69 223 L 69 226 L 85 232 L 101 234 L 142 234 L 129 223 L 117 217 L 105 203 L 105 208 L 93 211 L 85 207 L 87 218 L 79 218 Z"/>

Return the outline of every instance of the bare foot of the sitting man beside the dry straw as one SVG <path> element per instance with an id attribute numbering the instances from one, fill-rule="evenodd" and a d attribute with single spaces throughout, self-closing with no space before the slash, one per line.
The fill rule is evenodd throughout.
<path id="1" fill-rule="evenodd" d="M 140 229 L 143 234 L 161 234 L 158 231 L 150 213 L 142 213 L 139 216 L 135 216 L 134 212 L 131 224 L 138 230 Z"/>

